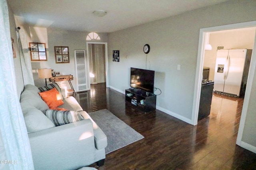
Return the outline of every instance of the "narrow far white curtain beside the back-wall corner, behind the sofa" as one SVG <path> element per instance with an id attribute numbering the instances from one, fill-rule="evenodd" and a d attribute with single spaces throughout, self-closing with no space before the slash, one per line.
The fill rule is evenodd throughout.
<path id="1" fill-rule="evenodd" d="M 24 32 L 24 29 L 17 30 L 17 33 L 24 86 L 26 86 L 26 84 L 34 85 L 32 66 L 30 62 L 30 53 L 28 51 L 28 48 L 22 48 L 23 45 L 26 46 L 26 44 L 28 44 L 26 33 Z"/>

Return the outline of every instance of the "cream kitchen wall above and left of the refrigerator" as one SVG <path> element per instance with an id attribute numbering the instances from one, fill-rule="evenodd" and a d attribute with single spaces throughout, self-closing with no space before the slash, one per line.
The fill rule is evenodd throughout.
<path id="1" fill-rule="evenodd" d="M 224 49 L 253 49 L 256 28 L 233 29 L 210 33 L 211 51 L 205 51 L 204 66 L 210 67 L 209 80 L 214 80 L 217 47 Z"/>

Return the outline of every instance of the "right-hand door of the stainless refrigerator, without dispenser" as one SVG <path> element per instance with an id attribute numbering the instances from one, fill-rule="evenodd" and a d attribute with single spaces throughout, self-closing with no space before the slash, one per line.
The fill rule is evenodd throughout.
<path id="1" fill-rule="evenodd" d="M 244 72 L 246 49 L 232 49 L 228 53 L 228 70 L 224 85 L 224 92 L 240 95 L 240 87 Z"/>

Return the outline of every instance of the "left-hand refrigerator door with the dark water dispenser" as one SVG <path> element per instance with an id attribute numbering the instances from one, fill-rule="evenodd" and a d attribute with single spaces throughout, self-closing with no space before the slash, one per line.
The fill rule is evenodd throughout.
<path id="1" fill-rule="evenodd" d="M 227 70 L 228 50 L 218 50 L 214 72 L 214 91 L 223 92 Z"/>

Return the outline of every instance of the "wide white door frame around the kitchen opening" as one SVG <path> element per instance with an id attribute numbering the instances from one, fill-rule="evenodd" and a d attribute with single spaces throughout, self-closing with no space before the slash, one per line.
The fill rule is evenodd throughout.
<path id="1" fill-rule="evenodd" d="M 200 92 L 201 92 L 201 84 L 202 84 L 202 73 L 203 73 L 203 65 L 204 65 L 204 44 L 205 44 L 206 33 L 214 32 L 214 31 L 229 30 L 229 29 L 247 28 L 247 27 L 256 27 L 256 21 L 234 23 L 229 25 L 221 25 L 216 27 L 208 27 L 208 28 L 200 29 L 199 43 L 198 43 L 198 56 L 197 56 L 197 64 L 196 64 L 196 77 L 195 77 L 195 86 L 194 86 L 194 99 L 193 99 L 193 108 L 192 108 L 192 117 L 191 117 L 192 125 L 197 125 L 197 122 L 198 122 L 197 119 L 198 119 Z M 255 68 L 256 68 L 256 36 L 254 38 L 254 47 L 252 50 L 252 58 L 250 63 L 247 85 L 246 85 L 246 92 L 244 96 L 244 104 L 242 108 L 240 125 L 239 125 L 238 135 L 236 139 L 236 144 L 239 146 L 241 145 L 241 142 L 242 142 L 242 134 L 244 131 L 246 114 L 248 110 L 248 104 L 250 101 L 250 94 L 252 92 L 252 80 L 254 77 Z"/>

